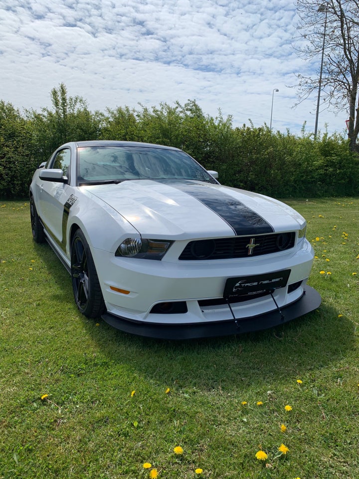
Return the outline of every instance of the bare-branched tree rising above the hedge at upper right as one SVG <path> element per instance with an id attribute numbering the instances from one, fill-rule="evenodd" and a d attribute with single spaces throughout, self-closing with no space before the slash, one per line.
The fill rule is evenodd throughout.
<path id="1" fill-rule="evenodd" d="M 324 60 L 322 76 L 297 75 L 299 99 L 320 88 L 327 108 L 346 110 L 350 149 L 359 152 L 359 0 L 297 0 L 297 11 L 300 56 Z"/>

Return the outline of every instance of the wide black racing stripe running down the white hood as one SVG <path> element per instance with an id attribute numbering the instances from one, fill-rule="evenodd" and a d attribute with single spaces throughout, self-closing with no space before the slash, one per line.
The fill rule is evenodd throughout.
<path id="1" fill-rule="evenodd" d="M 190 181 L 166 181 L 165 183 L 200 201 L 228 223 L 236 236 L 274 233 L 273 227 L 258 213 L 216 188 Z"/>

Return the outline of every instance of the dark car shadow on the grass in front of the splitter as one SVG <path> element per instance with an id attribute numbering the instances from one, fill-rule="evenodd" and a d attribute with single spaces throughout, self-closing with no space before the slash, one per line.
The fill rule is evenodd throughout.
<path id="1" fill-rule="evenodd" d="M 354 325 L 325 303 L 304 317 L 256 333 L 186 341 L 149 339 L 87 323 L 103 354 L 149 381 L 231 388 L 299 377 L 338 363 L 355 347 Z"/>

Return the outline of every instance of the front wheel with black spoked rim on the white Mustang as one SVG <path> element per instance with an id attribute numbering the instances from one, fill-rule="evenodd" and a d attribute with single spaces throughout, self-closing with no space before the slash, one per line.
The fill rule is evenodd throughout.
<path id="1" fill-rule="evenodd" d="M 71 277 L 75 302 L 82 314 L 97 318 L 106 310 L 90 246 L 81 230 L 71 243 Z"/>

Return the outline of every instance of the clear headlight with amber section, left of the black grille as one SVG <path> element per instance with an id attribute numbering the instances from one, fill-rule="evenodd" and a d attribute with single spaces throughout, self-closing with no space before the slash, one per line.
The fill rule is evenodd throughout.
<path id="1" fill-rule="evenodd" d="M 127 238 L 117 248 L 115 256 L 162 259 L 171 244 L 172 241 Z"/>

